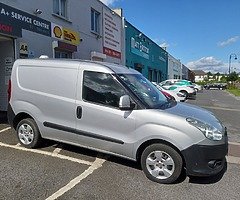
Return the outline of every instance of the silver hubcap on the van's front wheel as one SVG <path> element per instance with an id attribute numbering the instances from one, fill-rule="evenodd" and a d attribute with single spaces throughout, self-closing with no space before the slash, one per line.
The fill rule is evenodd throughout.
<path id="1" fill-rule="evenodd" d="M 169 178 L 175 169 L 172 157 L 164 151 L 153 151 L 146 159 L 148 172 L 157 179 Z"/>

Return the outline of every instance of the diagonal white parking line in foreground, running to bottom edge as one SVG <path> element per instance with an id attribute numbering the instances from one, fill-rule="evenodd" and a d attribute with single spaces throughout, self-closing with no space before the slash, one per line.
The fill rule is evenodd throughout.
<path id="1" fill-rule="evenodd" d="M 79 184 L 83 179 L 87 178 L 90 174 L 92 174 L 96 169 L 100 168 L 102 164 L 106 160 L 96 158 L 96 160 L 93 162 L 92 166 L 90 166 L 87 170 L 85 170 L 82 174 L 71 180 L 67 185 L 59 189 L 57 192 L 52 194 L 50 197 L 48 197 L 46 200 L 54 200 L 58 197 L 62 196 L 65 192 L 71 190 L 73 187 L 75 187 L 77 184 Z"/>

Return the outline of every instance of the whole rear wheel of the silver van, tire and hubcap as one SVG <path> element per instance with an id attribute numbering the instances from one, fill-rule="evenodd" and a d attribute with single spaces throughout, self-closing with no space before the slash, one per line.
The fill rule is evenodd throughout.
<path id="1" fill-rule="evenodd" d="M 36 122 L 31 118 L 21 120 L 16 131 L 19 142 L 27 148 L 37 148 L 43 141 Z"/>

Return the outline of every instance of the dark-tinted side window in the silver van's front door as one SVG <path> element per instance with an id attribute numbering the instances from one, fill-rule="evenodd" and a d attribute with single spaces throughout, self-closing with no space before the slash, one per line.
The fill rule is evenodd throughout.
<path id="1" fill-rule="evenodd" d="M 86 101 L 119 107 L 119 99 L 125 90 L 110 74 L 84 71 L 82 98 Z"/>

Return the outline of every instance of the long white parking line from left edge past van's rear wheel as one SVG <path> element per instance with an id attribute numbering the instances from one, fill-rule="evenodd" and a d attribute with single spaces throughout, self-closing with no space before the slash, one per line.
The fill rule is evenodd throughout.
<path id="1" fill-rule="evenodd" d="M 60 159 L 63 159 L 63 160 L 69 160 L 69 161 L 76 162 L 76 163 L 79 163 L 79 164 L 84 164 L 84 165 L 92 165 L 93 164 L 92 162 L 89 162 L 89 161 L 85 161 L 85 160 L 81 160 L 81 159 L 77 159 L 77 158 L 72 158 L 72 157 L 69 157 L 69 156 L 61 155 L 61 154 L 54 154 L 53 152 L 47 152 L 47 151 L 42 151 L 42 150 L 38 150 L 38 149 L 27 149 L 25 147 L 4 144 L 2 142 L 0 142 L 0 146 L 7 147 L 7 148 L 12 148 L 12 149 L 16 149 L 16 150 L 21 150 L 21 151 L 38 153 L 38 154 L 47 155 L 47 156 L 51 156 L 51 157 L 56 157 L 56 158 L 60 158 Z"/>

